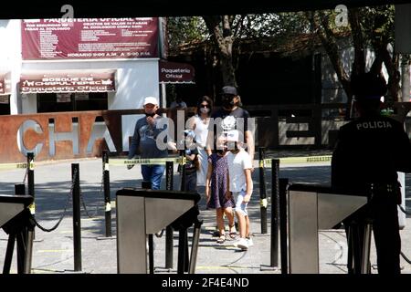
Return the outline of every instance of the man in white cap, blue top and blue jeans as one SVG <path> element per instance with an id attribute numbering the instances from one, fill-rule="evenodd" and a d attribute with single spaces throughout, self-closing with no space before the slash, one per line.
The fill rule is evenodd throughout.
<path id="1" fill-rule="evenodd" d="M 141 158 L 165 158 L 168 156 L 167 148 L 160 150 L 157 146 L 157 138 L 163 130 L 167 130 L 167 124 L 156 111 L 159 109 L 158 100 L 153 97 L 144 99 L 143 109 L 145 117 L 137 120 L 130 145 L 129 159 L 132 159 L 137 150 L 140 150 Z M 163 136 L 163 135 L 162 135 Z M 166 141 L 163 141 L 166 143 Z M 127 165 L 132 169 L 133 164 Z M 142 179 L 152 183 L 152 189 L 160 189 L 165 166 L 142 164 Z"/>

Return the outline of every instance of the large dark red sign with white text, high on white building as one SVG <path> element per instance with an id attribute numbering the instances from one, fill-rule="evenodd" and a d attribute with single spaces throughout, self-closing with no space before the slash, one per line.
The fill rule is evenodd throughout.
<path id="1" fill-rule="evenodd" d="M 23 20 L 26 60 L 158 57 L 158 18 Z"/>

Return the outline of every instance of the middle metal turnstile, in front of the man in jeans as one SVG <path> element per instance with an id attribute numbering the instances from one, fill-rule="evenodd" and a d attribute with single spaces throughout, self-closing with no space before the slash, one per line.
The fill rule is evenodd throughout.
<path id="1" fill-rule="evenodd" d="M 198 223 L 196 203 L 201 198 L 198 193 L 124 188 L 116 195 L 118 273 L 147 273 L 147 235 L 156 234 L 170 224 L 180 228 L 180 235 L 186 235 L 186 228 Z M 191 264 L 194 265 L 196 255 L 193 251 L 196 253 L 198 236 L 197 231 L 192 247 L 194 262 Z M 181 238 L 180 243 L 183 243 Z M 190 271 L 193 271 L 193 265 Z"/>

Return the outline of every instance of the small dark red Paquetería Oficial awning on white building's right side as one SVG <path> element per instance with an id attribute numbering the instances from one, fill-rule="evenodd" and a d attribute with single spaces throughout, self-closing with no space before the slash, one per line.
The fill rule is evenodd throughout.
<path id="1" fill-rule="evenodd" d="M 195 69 L 189 64 L 160 61 L 159 67 L 162 83 L 195 83 Z"/>

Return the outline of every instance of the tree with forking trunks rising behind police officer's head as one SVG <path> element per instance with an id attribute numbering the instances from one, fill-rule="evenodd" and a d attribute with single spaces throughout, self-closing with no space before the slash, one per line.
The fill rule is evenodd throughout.
<path id="1" fill-rule="evenodd" d="M 351 72 L 346 72 L 339 53 L 337 35 L 340 28 L 335 26 L 335 13 L 333 11 L 307 12 L 306 17 L 311 24 L 313 32 L 319 36 L 322 47 L 327 52 L 332 62 L 332 67 L 342 84 L 348 105 L 351 105 L 352 93 L 350 79 L 353 74 L 365 71 L 365 49 L 371 48 L 375 58 L 370 70 L 381 72 L 383 63 L 388 73 L 388 102 L 392 103 L 399 97 L 400 74 L 398 71 L 399 56 L 390 51 L 394 42 L 394 6 L 385 5 L 377 7 L 350 8 L 348 13 L 349 26 L 342 27 L 350 32 L 354 48 L 354 59 Z"/>

